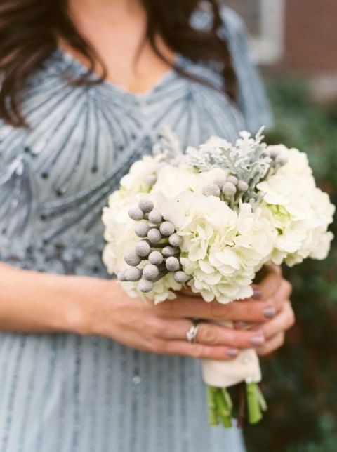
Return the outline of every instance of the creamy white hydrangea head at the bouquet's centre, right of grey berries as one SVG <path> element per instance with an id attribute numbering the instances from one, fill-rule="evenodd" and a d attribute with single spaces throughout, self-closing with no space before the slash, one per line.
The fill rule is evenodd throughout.
<path id="1" fill-rule="evenodd" d="M 220 303 L 251 295 L 256 271 L 272 251 L 276 231 L 261 209 L 242 204 L 237 214 L 218 197 L 184 191 L 173 200 L 161 196 L 161 213 L 183 237 L 183 270 L 206 301 Z"/>

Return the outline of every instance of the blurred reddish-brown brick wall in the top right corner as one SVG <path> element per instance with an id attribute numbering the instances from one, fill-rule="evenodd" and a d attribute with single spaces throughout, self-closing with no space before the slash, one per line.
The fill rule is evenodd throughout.
<path id="1" fill-rule="evenodd" d="M 306 74 L 336 74 L 337 0 L 286 0 L 285 15 L 282 66 Z"/>

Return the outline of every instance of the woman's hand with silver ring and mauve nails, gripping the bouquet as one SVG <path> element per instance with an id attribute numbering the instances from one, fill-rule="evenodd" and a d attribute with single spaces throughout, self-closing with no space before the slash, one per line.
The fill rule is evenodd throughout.
<path id="1" fill-rule="evenodd" d="M 81 306 L 84 315 L 77 328 L 84 334 L 103 335 L 133 347 L 158 354 L 179 354 L 205 359 L 233 359 L 241 348 L 262 350 L 275 343 L 279 333 L 286 296 L 278 270 L 270 270 L 255 288 L 261 300 L 242 300 L 228 305 L 206 303 L 194 294 L 178 294 L 175 300 L 159 305 L 129 298 L 117 281 L 101 281 L 98 293 L 91 291 Z M 104 287 L 104 288 L 103 288 Z M 205 319 L 197 334 L 197 343 L 189 343 L 186 333 L 193 318 Z M 272 324 L 271 319 L 277 319 Z M 251 331 L 226 328 L 212 321 L 245 321 L 258 324 Z M 268 326 L 267 326 L 268 325 Z M 267 328 L 266 328 L 267 326 Z M 266 328 L 266 329 L 264 329 Z M 276 333 L 275 333 L 276 331 Z M 278 336 L 277 336 L 278 337 Z"/>

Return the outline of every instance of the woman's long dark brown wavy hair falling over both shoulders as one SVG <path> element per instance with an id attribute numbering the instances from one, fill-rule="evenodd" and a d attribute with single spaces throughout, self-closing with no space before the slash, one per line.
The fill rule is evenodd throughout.
<path id="1" fill-rule="evenodd" d="M 225 91 L 235 100 L 236 77 L 229 48 L 218 36 L 223 25 L 217 0 L 142 0 L 147 13 L 145 39 L 163 60 L 156 46 L 159 34 L 171 50 L 191 60 L 223 64 Z M 197 8 L 208 8 L 211 28 L 194 29 L 190 18 Z M 67 0 L 1 0 L 0 2 L 0 117 L 13 126 L 27 126 L 20 109 L 20 94 L 29 76 L 57 48 L 62 39 L 90 63 L 89 72 L 99 61 L 95 50 L 79 34 L 67 11 Z M 184 77 L 194 78 L 174 67 Z M 104 74 L 103 68 L 103 74 Z M 81 83 L 88 83 L 84 76 Z"/>

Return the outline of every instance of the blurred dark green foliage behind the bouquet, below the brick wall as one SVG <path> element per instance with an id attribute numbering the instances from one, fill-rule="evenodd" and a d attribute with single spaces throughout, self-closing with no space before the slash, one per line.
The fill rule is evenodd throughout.
<path id="1" fill-rule="evenodd" d="M 337 108 L 314 105 L 303 81 L 270 86 L 275 130 L 283 142 L 308 153 L 317 182 L 337 204 Z M 337 237 L 336 222 L 332 225 Z M 284 269 L 293 284 L 296 326 L 286 345 L 263 362 L 269 410 L 246 428 L 249 452 L 337 451 L 337 243 L 325 261 Z"/>

